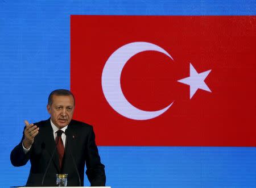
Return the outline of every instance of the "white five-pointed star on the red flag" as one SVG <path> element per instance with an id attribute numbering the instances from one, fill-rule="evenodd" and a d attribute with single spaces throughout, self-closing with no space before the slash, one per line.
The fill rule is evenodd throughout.
<path id="1" fill-rule="evenodd" d="M 210 91 L 209 87 L 204 82 L 205 78 L 210 73 L 210 70 L 207 70 L 203 73 L 197 73 L 196 69 L 193 67 L 192 64 L 189 66 L 190 70 L 190 76 L 187 78 L 183 78 L 181 80 L 178 80 L 178 82 L 185 83 L 190 86 L 190 99 L 193 97 L 193 95 L 196 93 L 198 89 L 203 89 L 205 91 Z"/>

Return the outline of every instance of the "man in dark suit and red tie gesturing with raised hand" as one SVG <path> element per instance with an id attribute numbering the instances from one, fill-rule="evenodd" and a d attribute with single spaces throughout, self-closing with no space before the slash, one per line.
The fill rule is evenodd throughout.
<path id="1" fill-rule="evenodd" d="M 54 90 L 47 105 L 51 118 L 34 124 L 25 120 L 22 140 L 10 158 L 14 166 L 30 160 L 27 186 L 56 186 L 56 174 L 60 173 L 68 174 L 68 186 L 79 186 L 79 179 L 83 186 L 85 162 L 90 185 L 105 186 L 105 166 L 98 155 L 93 128 L 72 120 L 74 109 L 71 91 Z"/>

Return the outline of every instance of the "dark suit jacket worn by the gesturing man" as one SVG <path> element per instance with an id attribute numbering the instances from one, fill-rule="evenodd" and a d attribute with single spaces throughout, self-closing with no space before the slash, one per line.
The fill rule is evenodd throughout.
<path id="1" fill-rule="evenodd" d="M 11 163 L 14 166 L 23 166 L 30 160 L 31 168 L 27 179 L 27 186 L 42 186 L 42 179 L 51 155 L 55 149 L 55 140 L 50 119 L 34 123 L 39 127 L 39 133 L 34 139 L 30 151 L 25 154 L 22 147 L 23 137 L 20 143 L 11 152 Z M 81 178 L 81 186 L 84 185 L 84 167 L 91 186 L 105 186 L 106 176 L 104 165 L 101 164 L 95 136 L 92 126 L 86 123 L 71 120 L 66 137 L 63 168 L 60 169 L 57 150 L 53 154 L 52 161 L 46 174 L 43 186 L 56 186 L 56 174 L 68 174 L 68 186 L 79 186 L 79 178 L 73 164 L 71 153 Z"/>

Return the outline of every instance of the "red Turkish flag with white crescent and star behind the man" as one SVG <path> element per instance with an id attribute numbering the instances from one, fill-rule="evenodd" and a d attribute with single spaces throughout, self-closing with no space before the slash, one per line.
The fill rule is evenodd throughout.
<path id="1" fill-rule="evenodd" d="M 75 119 L 98 145 L 255 147 L 255 34 L 256 16 L 72 15 Z"/>

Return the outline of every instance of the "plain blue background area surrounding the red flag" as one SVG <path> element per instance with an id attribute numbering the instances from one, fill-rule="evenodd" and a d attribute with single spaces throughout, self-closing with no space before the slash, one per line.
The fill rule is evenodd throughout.
<path id="1" fill-rule="evenodd" d="M 70 15 L 255 13 L 255 1 L 0 1 L 0 187 L 26 183 L 30 164 L 10 163 L 24 119 L 47 119 L 49 92 L 70 87 Z M 99 147 L 114 188 L 256 187 L 255 149 Z"/>

